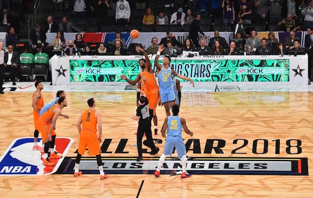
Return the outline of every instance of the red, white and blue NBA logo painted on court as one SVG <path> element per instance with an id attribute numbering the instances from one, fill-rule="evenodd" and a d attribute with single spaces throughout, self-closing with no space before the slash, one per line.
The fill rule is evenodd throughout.
<path id="1" fill-rule="evenodd" d="M 41 138 L 39 138 L 41 140 Z M 0 157 L 0 175 L 49 175 L 55 173 L 64 157 L 50 159 L 55 166 L 45 166 L 40 151 L 33 151 L 33 137 L 24 137 L 14 140 Z M 57 137 L 55 149 L 66 156 L 73 143 L 72 138 Z M 41 142 L 39 143 L 40 146 Z"/>

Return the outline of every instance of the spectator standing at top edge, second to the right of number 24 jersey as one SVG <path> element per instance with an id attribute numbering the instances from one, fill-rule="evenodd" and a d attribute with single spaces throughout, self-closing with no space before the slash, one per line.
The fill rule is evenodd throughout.
<path id="1" fill-rule="evenodd" d="M 254 6 L 256 7 L 254 23 L 265 25 L 268 15 L 269 0 L 255 0 Z"/>

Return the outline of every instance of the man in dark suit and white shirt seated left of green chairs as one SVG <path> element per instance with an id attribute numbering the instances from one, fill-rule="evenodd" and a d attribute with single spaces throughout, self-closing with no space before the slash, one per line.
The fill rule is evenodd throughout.
<path id="1" fill-rule="evenodd" d="M 8 51 L 4 53 L 4 66 L 6 71 L 11 71 L 12 83 L 16 85 L 15 81 L 17 79 L 17 70 L 20 63 L 20 55 L 18 52 L 13 51 L 13 45 L 8 46 Z"/>

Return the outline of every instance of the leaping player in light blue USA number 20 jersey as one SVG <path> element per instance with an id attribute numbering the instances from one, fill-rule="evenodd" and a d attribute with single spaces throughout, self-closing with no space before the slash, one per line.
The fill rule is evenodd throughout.
<path id="1" fill-rule="evenodd" d="M 155 59 L 155 66 L 156 66 L 156 72 L 157 72 L 157 77 L 158 77 L 158 85 L 159 85 L 159 92 L 160 92 L 160 99 L 161 102 L 165 108 L 166 116 L 171 115 L 170 112 L 170 107 L 173 107 L 175 105 L 175 93 L 174 90 L 171 86 L 171 81 L 172 81 L 172 74 L 174 76 L 177 76 L 183 80 L 190 81 L 190 84 L 194 85 L 194 81 L 191 78 L 188 78 L 186 76 L 180 75 L 177 73 L 174 69 L 170 68 L 170 63 L 171 63 L 171 57 L 165 55 L 163 58 L 163 66 L 161 66 L 158 63 L 158 56 L 160 53 L 163 51 L 164 47 L 161 44 L 158 47 L 158 52 L 156 53 L 156 59 Z"/>

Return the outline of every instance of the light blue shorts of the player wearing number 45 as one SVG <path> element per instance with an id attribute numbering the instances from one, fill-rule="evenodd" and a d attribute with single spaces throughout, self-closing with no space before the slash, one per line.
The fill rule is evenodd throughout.
<path id="1" fill-rule="evenodd" d="M 181 136 L 167 136 L 163 154 L 171 156 L 174 147 L 176 148 L 178 157 L 186 154 L 186 147 Z"/>

